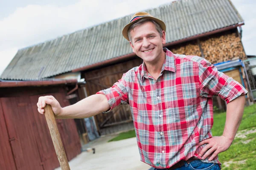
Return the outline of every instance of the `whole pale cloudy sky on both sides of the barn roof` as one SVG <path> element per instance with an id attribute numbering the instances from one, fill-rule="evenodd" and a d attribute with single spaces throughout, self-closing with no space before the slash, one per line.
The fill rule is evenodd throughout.
<path id="1" fill-rule="evenodd" d="M 0 0 L 0 74 L 18 49 L 173 0 Z M 244 19 L 242 43 L 256 55 L 256 0 L 231 0 Z"/>

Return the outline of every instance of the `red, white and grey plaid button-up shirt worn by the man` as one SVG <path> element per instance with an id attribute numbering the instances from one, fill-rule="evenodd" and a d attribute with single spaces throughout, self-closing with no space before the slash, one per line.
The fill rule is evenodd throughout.
<path id="1" fill-rule="evenodd" d="M 217 71 L 197 56 L 173 54 L 166 60 L 157 80 L 144 63 L 123 74 L 113 87 L 99 91 L 111 107 L 129 104 L 141 161 L 156 168 L 169 168 L 180 160 L 198 155 L 198 143 L 212 137 L 212 97 L 227 103 L 247 91 L 234 79 Z M 218 156 L 209 161 L 218 161 Z"/>

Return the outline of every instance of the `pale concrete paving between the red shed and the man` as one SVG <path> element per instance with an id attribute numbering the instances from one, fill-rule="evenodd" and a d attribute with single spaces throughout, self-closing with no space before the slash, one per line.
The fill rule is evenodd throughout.
<path id="1" fill-rule="evenodd" d="M 115 142 L 108 140 L 117 134 L 100 137 L 83 146 L 95 148 L 93 152 L 82 152 L 69 161 L 71 170 L 148 170 L 151 167 L 140 161 L 136 137 Z M 55 170 L 61 170 L 60 167 Z"/>

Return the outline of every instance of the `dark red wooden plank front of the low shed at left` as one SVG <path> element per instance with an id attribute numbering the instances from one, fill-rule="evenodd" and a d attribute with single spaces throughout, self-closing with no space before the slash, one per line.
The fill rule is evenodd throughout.
<path id="1" fill-rule="evenodd" d="M 0 156 L 6 154 L 9 164 L 1 170 L 53 170 L 59 166 L 45 116 L 37 111 L 38 97 L 44 95 L 55 96 L 62 107 L 69 105 L 62 87 L 0 88 L 0 127 L 6 126 L 8 133 L 8 138 L 3 133 L 5 137 L 0 139 Z M 81 153 L 76 124 L 73 119 L 56 121 L 71 160 Z"/>

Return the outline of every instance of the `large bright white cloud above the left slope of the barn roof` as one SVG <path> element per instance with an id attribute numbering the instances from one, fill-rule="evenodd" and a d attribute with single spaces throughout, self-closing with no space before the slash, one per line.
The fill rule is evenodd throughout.
<path id="1" fill-rule="evenodd" d="M 166 3 L 169 0 L 162 0 Z M 0 50 L 34 45 L 63 34 L 113 20 L 135 11 L 158 6 L 155 0 L 139 0 L 135 3 L 106 0 L 81 0 L 66 7 L 29 5 L 0 21 Z M 135 4 L 135 5 L 134 5 Z M 140 5 L 136 5 L 140 4 Z M 157 5 L 158 4 L 158 5 Z M 3 43 L 4 42 L 4 43 Z"/>

